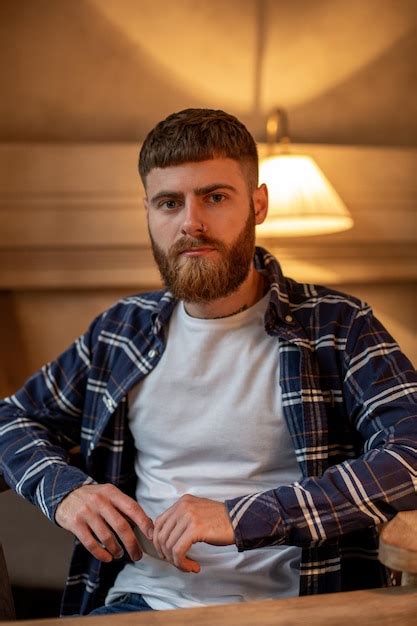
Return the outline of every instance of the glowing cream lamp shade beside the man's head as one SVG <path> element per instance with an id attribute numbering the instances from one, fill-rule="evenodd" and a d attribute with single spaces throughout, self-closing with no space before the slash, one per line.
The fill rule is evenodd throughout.
<path id="1" fill-rule="evenodd" d="M 269 192 L 268 217 L 257 226 L 259 235 L 299 237 L 352 228 L 347 207 L 311 157 L 266 157 L 259 179 Z"/>

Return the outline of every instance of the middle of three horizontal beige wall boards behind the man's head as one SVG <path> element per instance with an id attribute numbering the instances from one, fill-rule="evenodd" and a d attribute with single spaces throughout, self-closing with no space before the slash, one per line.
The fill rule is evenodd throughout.
<path id="1" fill-rule="evenodd" d="M 133 203 L 132 203 L 133 204 Z M 417 212 L 408 207 L 394 208 L 350 205 L 355 225 L 352 231 L 333 235 L 332 243 L 354 241 L 416 241 Z M 318 238 L 316 238 L 318 239 Z M 284 238 L 281 241 L 285 241 Z M 288 240 L 287 240 L 288 241 Z M 320 238 L 321 244 L 327 240 Z M 315 243 L 318 243 L 316 241 Z M 148 245 L 144 209 L 133 208 L 67 208 L 35 210 L 0 209 L 0 248 L 71 248 Z M 288 246 L 288 243 L 287 243 Z"/>

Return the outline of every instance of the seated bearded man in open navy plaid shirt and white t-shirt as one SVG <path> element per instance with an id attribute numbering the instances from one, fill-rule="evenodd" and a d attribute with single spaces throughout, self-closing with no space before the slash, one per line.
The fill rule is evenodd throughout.
<path id="1" fill-rule="evenodd" d="M 367 305 L 255 252 L 267 189 L 236 118 L 169 116 L 139 170 L 167 290 L 0 406 L 7 481 L 77 537 L 63 614 L 389 584 L 378 526 L 417 507 L 410 362 Z"/>

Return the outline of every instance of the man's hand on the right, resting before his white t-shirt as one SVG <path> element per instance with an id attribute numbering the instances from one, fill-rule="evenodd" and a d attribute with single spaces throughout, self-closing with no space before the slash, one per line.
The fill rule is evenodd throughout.
<path id="1" fill-rule="evenodd" d="M 152 540 L 162 559 L 183 572 L 198 573 L 199 563 L 186 556 L 191 546 L 199 541 L 231 545 L 235 534 L 223 502 L 186 494 L 156 518 Z"/>

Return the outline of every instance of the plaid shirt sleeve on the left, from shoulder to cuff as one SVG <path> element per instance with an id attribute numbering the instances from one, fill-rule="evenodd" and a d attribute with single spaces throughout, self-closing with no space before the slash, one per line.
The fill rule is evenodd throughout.
<path id="1" fill-rule="evenodd" d="M 98 319 L 14 395 L 0 400 L 0 472 L 52 521 L 56 507 L 70 491 L 95 482 L 69 461 L 70 450 L 80 445 L 91 342 Z"/>

